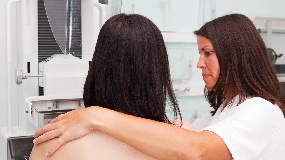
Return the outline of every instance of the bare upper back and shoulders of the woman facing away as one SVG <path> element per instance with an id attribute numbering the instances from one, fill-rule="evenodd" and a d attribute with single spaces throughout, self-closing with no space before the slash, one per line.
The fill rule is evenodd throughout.
<path id="1" fill-rule="evenodd" d="M 175 122 L 174 122 L 175 123 Z M 194 130 L 191 123 L 183 121 L 183 128 Z M 49 157 L 44 153 L 57 140 L 54 138 L 34 145 L 30 160 L 33 159 L 154 159 L 135 148 L 99 131 L 69 141 Z"/>

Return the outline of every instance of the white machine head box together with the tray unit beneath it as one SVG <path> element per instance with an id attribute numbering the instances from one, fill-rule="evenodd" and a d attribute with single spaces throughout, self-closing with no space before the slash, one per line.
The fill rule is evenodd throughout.
<path id="1" fill-rule="evenodd" d="M 29 120 L 37 128 L 60 114 L 84 107 L 83 86 L 89 65 L 72 55 L 54 54 L 39 63 L 39 86 L 44 96 L 25 98 Z"/>

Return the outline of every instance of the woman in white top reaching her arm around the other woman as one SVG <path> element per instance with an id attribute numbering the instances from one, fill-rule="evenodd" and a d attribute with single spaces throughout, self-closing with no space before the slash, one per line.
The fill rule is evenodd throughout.
<path id="1" fill-rule="evenodd" d="M 156 159 L 284 159 L 285 96 L 253 23 L 225 15 L 194 33 L 211 105 L 193 123 L 197 132 L 92 106 L 55 118 L 34 134 L 36 142 L 60 137 L 50 156 L 98 129 Z"/>

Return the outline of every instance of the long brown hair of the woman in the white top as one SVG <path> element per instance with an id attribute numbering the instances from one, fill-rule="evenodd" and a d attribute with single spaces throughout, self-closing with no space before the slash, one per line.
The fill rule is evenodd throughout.
<path id="1" fill-rule="evenodd" d="M 285 96 L 269 59 L 264 41 L 253 22 L 241 14 L 216 18 L 194 31 L 208 38 L 218 57 L 220 75 L 213 87 L 205 88 L 205 97 L 215 110 L 225 100 L 225 91 L 239 93 L 239 103 L 247 96 L 261 97 L 277 104 L 284 113 Z M 230 103 L 232 103 L 231 101 Z"/>

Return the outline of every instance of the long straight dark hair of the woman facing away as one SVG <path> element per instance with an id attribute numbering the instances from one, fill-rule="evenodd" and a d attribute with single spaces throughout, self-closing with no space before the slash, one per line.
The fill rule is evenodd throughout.
<path id="1" fill-rule="evenodd" d="M 170 123 L 181 114 L 172 89 L 169 62 L 161 31 L 138 14 L 118 14 L 100 30 L 84 85 L 86 107 L 112 110 Z"/>

